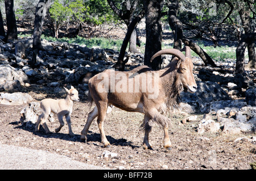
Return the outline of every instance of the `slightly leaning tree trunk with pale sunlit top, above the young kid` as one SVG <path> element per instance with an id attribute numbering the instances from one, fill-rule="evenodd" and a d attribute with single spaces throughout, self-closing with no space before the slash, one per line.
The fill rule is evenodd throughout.
<path id="1" fill-rule="evenodd" d="M 34 22 L 34 31 L 33 31 L 33 56 L 32 64 L 36 64 L 36 57 L 38 56 L 38 51 L 43 49 L 41 43 L 42 28 L 44 23 L 44 16 L 46 16 L 46 11 L 49 6 L 49 0 L 40 0 L 36 6 L 35 12 L 35 22 Z"/>

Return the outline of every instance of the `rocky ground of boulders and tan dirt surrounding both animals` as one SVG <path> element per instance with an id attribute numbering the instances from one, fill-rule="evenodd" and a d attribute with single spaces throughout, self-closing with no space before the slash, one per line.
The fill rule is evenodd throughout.
<path id="1" fill-rule="evenodd" d="M 45 50 L 39 52 L 38 64 L 30 65 L 32 39 L 19 42 L 19 46 L 0 43 L 0 144 L 49 151 L 110 169 L 251 169 L 250 163 L 256 162 L 255 70 L 233 74 L 233 60 L 217 62 L 217 68 L 212 68 L 193 57 L 197 92 L 184 92 L 180 110 L 167 115 L 172 120 L 172 150 L 163 148 L 158 125 L 150 133 L 154 150 L 143 150 L 144 134 L 139 130 L 143 115 L 115 107 L 104 125 L 112 145 L 103 148 L 96 121 L 88 142 L 80 141 L 92 109 L 86 83 L 92 75 L 111 68 L 118 52 L 43 40 Z M 126 57 L 126 70 L 143 64 L 142 54 Z M 163 58 L 167 65 L 169 57 Z M 46 134 L 43 128 L 34 132 L 40 100 L 64 98 L 63 86 L 71 85 L 81 99 L 74 103 L 71 116 L 75 136 L 68 135 L 67 124 L 55 133 L 59 123 L 54 116 L 48 123 L 53 133 Z"/>

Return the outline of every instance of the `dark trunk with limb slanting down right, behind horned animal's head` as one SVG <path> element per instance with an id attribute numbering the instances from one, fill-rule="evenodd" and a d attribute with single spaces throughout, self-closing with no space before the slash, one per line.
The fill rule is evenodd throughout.
<path id="1" fill-rule="evenodd" d="M 198 54 L 202 60 L 204 61 L 205 65 L 212 65 L 216 67 L 216 64 L 213 62 L 212 58 L 204 52 L 199 45 L 193 43 L 192 40 L 187 39 L 183 36 L 183 24 L 177 18 L 177 11 L 179 9 L 179 0 L 172 0 L 170 1 L 169 11 L 168 11 L 168 20 L 172 32 L 174 33 L 174 48 L 181 49 L 181 44 L 184 43 L 185 45 L 189 46 L 196 54 Z"/>

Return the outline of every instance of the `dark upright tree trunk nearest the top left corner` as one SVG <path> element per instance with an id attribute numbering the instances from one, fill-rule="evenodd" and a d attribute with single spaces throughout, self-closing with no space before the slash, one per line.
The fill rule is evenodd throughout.
<path id="1" fill-rule="evenodd" d="M 13 0 L 5 0 L 5 12 L 7 23 L 7 35 L 5 37 L 5 41 L 7 42 L 9 40 L 17 40 L 18 30 L 16 26 Z"/>

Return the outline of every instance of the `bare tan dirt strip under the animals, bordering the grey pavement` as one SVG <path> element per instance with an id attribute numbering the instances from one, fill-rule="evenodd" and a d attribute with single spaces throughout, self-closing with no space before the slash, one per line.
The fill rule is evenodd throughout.
<path id="1" fill-rule="evenodd" d="M 197 121 L 187 124 L 181 124 L 184 115 L 171 116 L 171 150 L 163 148 L 163 130 L 155 124 L 150 133 L 150 144 L 154 150 L 143 150 L 144 133 L 139 130 L 143 119 L 141 113 L 113 108 L 104 125 L 112 145 L 103 148 L 96 120 L 89 129 L 88 141 L 80 141 L 80 133 L 90 111 L 88 102 L 74 103 L 71 116 L 74 137 L 69 136 L 67 123 L 59 133 L 55 133 L 55 128 L 59 126 L 57 117 L 53 123 L 48 123 L 52 131 L 49 134 L 44 132 L 42 126 L 40 132 L 34 132 L 34 124 L 19 125 L 22 108 L 24 106 L 0 105 L 0 144 L 46 150 L 110 169 L 251 169 L 249 163 L 256 161 L 255 144 L 246 139 L 234 142 L 237 138 L 254 135 L 227 135 L 221 132 L 201 135 L 196 128 L 203 115 L 197 115 Z M 102 158 L 105 150 L 117 153 L 117 157 Z"/>

